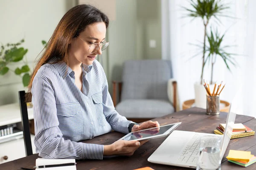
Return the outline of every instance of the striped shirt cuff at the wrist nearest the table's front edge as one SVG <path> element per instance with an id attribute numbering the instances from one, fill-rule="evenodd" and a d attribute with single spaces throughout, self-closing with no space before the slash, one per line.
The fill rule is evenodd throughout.
<path id="1" fill-rule="evenodd" d="M 82 159 L 103 159 L 104 145 L 83 143 Z"/>

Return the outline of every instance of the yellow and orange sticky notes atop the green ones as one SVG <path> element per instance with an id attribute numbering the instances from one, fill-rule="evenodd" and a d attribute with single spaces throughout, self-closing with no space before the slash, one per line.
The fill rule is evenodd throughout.
<path id="1" fill-rule="evenodd" d="M 233 161 L 249 162 L 251 157 L 252 156 L 250 151 L 230 150 L 226 158 L 228 160 L 233 160 Z"/>

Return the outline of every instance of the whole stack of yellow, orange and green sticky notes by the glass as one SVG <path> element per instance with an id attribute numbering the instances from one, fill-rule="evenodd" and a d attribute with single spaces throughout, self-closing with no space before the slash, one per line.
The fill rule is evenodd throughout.
<path id="1" fill-rule="evenodd" d="M 226 157 L 228 161 L 247 167 L 256 162 L 256 156 L 250 151 L 230 150 Z"/>

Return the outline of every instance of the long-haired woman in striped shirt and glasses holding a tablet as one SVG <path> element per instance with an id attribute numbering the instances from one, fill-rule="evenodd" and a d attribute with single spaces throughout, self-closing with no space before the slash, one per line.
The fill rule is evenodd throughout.
<path id="1" fill-rule="evenodd" d="M 130 156 L 144 142 L 116 141 L 110 145 L 81 140 L 108 133 L 128 133 L 158 122 L 136 125 L 115 111 L 105 72 L 95 59 L 108 46 L 108 17 L 90 5 L 71 8 L 62 17 L 32 74 L 35 146 L 48 159 L 102 159 Z M 31 96 L 30 96 L 31 97 Z"/>

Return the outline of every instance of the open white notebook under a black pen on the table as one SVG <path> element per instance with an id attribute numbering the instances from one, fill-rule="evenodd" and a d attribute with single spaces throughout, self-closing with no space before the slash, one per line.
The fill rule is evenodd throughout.
<path id="1" fill-rule="evenodd" d="M 35 160 L 35 166 L 50 165 L 50 164 L 66 164 L 75 163 L 76 159 L 43 159 L 38 158 Z M 43 168 L 36 168 L 35 170 L 42 170 Z M 76 170 L 76 165 L 65 167 L 48 167 L 47 170 Z"/>

